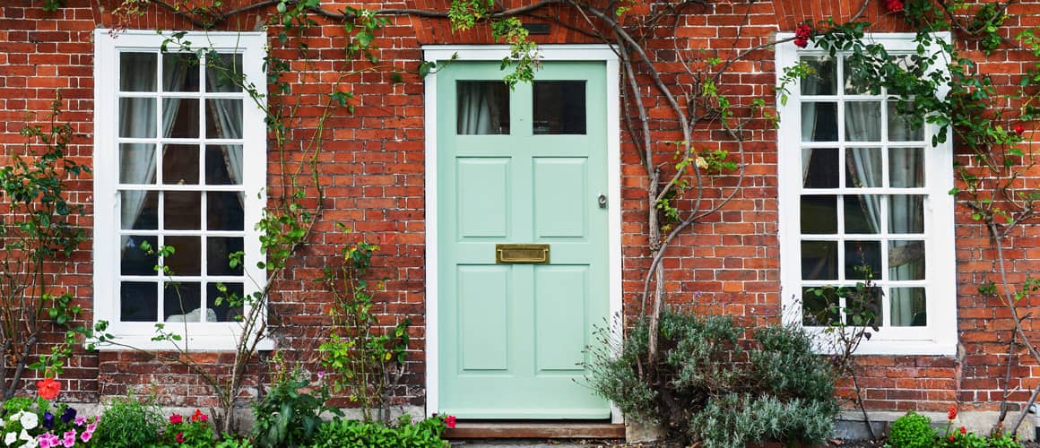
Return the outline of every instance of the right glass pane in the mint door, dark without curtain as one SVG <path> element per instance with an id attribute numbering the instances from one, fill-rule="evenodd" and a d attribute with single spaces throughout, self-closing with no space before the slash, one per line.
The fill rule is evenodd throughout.
<path id="1" fill-rule="evenodd" d="M 535 81 L 534 90 L 536 135 L 586 133 L 584 81 Z"/>

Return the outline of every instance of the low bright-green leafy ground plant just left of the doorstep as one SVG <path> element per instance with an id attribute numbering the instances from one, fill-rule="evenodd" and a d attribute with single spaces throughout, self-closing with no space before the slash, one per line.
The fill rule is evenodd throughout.
<path id="1" fill-rule="evenodd" d="M 314 438 L 312 448 L 349 447 L 409 447 L 443 448 L 448 443 L 441 440 L 444 421 L 439 418 L 412 422 L 409 416 L 401 416 L 396 424 L 362 422 L 336 419 L 321 424 Z"/>

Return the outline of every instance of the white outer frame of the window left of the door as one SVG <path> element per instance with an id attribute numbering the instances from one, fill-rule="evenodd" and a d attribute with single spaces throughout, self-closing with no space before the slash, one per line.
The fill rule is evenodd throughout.
<path id="1" fill-rule="evenodd" d="M 176 343 L 153 341 L 157 335 L 155 322 L 120 321 L 120 201 L 119 180 L 119 64 L 125 51 L 155 52 L 174 32 L 154 30 L 98 29 L 94 33 L 94 322 L 108 322 L 105 333 L 114 336 L 116 344 L 102 344 L 101 349 L 125 349 L 126 344 L 140 349 L 231 350 L 241 334 L 239 322 L 177 322 L 165 331 L 180 335 Z M 245 83 L 252 84 L 261 98 L 266 96 L 263 60 L 266 35 L 263 32 L 187 32 L 184 41 L 194 50 L 213 49 L 222 53 L 240 53 Z M 174 51 L 170 44 L 167 51 Z M 244 188 L 244 293 L 261 290 L 266 271 L 257 267 L 263 261 L 260 234 L 254 225 L 260 220 L 266 201 L 267 130 L 264 111 L 250 94 L 242 94 L 242 186 Z M 222 94 L 226 97 L 225 94 Z M 265 100 L 261 100 L 265 101 Z M 204 290 L 205 291 L 205 290 Z M 205 292 L 203 293 L 205 304 Z M 160 311 L 161 312 L 161 311 Z M 186 327 L 185 327 L 186 325 Z M 176 345 L 175 345 L 176 344 Z M 263 339 L 260 349 L 269 349 L 271 342 Z"/>

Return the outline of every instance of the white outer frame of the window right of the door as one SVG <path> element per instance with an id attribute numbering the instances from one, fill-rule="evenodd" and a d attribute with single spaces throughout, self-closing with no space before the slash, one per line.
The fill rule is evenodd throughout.
<path id="1" fill-rule="evenodd" d="M 792 37 L 791 33 L 779 33 L 777 41 Z M 937 33 L 935 37 L 950 42 L 948 33 Z M 890 54 L 913 54 L 917 43 L 912 33 L 875 33 L 864 37 L 866 42 L 878 43 Z M 929 54 L 939 51 L 937 45 L 927 49 Z M 827 52 L 810 46 L 800 49 L 794 42 L 776 46 L 777 83 L 781 82 L 785 68 L 794 67 L 805 55 L 824 55 Z M 945 68 L 936 68 L 945 70 Z M 800 195 L 802 189 L 801 164 L 801 88 L 800 84 L 788 86 L 786 103 L 777 101 L 780 127 L 777 130 L 777 185 L 779 210 L 780 284 L 784 321 L 801 325 L 802 322 L 802 260 L 800 237 Z M 843 97 L 838 88 L 839 101 Z M 945 87 L 940 95 L 945 95 Z M 840 114 L 838 121 L 840 122 Z M 839 124 L 839 126 L 841 126 Z M 954 197 L 950 190 L 954 187 L 952 135 L 946 141 L 932 147 L 932 136 L 938 127 L 925 126 L 925 259 L 927 260 L 924 287 L 927 291 L 927 326 L 882 326 L 870 332 L 856 351 L 860 354 L 932 354 L 952 355 L 957 352 L 957 263 L 954 233 Z M 834 148 L 844 148 L 835 144 Z M 833 190 L 825 190 L 833 192 Z M 839 266 L 842 261 L 838 260 Z M 840 267 L 839 267 L 840 268 Z M 887 275 L 887 274 L 886 274 Z M 889 314 L 888 309 L 883 310 Z M 833 338 L 824 327 L 806 327 L 820 338 Z M 831 346 L 827 339 L 821 339 L 820 349 L 827 351 Z"/>

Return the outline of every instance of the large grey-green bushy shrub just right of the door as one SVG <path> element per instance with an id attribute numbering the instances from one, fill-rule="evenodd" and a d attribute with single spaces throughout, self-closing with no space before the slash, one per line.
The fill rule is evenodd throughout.
<path id="1" fill-rule="evenodd" d="M 592 388 L 626 417 L 662 424 L 671 438 L 705 447 L 821 443 L 833 429 L 834 372 L 812 354 L 801 328 L 759 328 L 745 343 L 745 328 L 731 317 L 666 311 L 659 359 L 651 366 L 648 326 L 636 322 L 620 355 L 603 350 L 589 366 Z"/>

